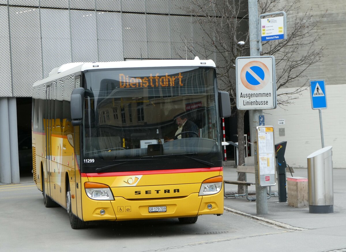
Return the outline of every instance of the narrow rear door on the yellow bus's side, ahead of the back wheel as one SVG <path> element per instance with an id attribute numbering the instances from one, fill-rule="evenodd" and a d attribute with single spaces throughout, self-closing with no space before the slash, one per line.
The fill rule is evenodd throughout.
<path id="1" fill-rule="evenodd" d="M 46 193 L 51 198 L 53 198 L 53 183 L 52 183 L 52 144 L 51 144 L 51 134 L 52 134 L 52 103 L 53 100 L 53 86 L 52 84 L 47 85 L 46 89 L 46 115 L 45 115 L 45 131 L 46 131 L 46 168 L 47 174 L 45 177 L 47 178 L 47 186 Z"/>

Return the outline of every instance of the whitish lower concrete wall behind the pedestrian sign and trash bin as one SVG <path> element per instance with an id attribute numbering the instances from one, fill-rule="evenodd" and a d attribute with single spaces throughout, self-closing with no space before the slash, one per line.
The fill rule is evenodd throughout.
<path id="1" fill-rule="evenodd" d="M 326 86 L 328 108 L 322 109 L 322 124 L 325 146 L 333 146 L 334 168 L 346 167 L 345 94 L 346 84 Z M 274 126 L 275 143 L 287 141 L 286 162 L 293 167 L 307 167 L 307 156 L 322 147 L 319 113 L 311 108 L 310 90 L 303 91 L 294 105 L 263 110 L 263 115 L 265 124 Z M 284 119 L 285 125 L 279 125 L 279 119 Z M 284 129 L 284 136 L 279 136 L 279 129 Z"/>

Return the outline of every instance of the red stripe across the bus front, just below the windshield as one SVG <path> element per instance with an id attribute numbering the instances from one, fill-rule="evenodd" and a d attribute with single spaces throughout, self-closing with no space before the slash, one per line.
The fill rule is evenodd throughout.
<path id="1" fill-rule="evenodd" d="M 117 177 L 131 175 L 153 175 L 153 174 L 169 174 L 169 173 L 189 173 L 189 172 L 210 172 L 223 171 L 222 167 L 212 168 L 192 168 L 192 169 L 174 169 L 174 170 L 157 170 L 157 171 L 126 171 L 126 172 L 102 172 L 102 173 L 82 173 L 81 177 Z"/>

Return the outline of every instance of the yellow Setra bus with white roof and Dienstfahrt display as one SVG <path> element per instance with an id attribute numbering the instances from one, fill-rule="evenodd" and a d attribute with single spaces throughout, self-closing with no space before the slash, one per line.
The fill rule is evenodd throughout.
<path id="1" fill-rule="evenodd" d="M 34 83 L 32 115 L 34 181 L 72 228 L 223 213 L 213 61 L 68 63 Z"/>

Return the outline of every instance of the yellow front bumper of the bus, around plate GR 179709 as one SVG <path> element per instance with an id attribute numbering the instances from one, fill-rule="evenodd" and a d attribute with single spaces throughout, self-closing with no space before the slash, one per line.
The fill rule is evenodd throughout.
<path id="1" fill-rule="evenodd" d="M 83 207 L 84 221 L 180 218 L 224 212 L 223 190 L 208 196 L 198 196 L 198 193 L 192 193 L 180 198 L 127 200 L 115 197 L 115 200 L 111 201 L 102 202 L 92 199 L 88 201 L 90 202 L 85 204 L 86 207 Z M 161 208 L 156 208 L 157 212 L 149 212 L 149 207 Z"/>

